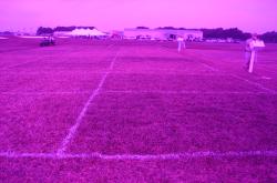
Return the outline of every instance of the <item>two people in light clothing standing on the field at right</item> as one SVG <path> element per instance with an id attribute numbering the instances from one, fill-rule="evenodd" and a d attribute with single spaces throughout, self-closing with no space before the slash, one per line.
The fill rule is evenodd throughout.
<path id="1" fill-rule="evenodd" d="M 259 48 L 265 47 L 264 42 L 258 39 L 257 33 L 253 33 L 252 38 L 246 40 L 245 44 L 245 60 L 246 65 L 245 68 L 248 72 L 253 72 L 254 62 L 257 59 L 257 50 Z M 183 37 L 177 37 L 177 51 L 181 52 L 182 49 L 185 49 L 185 40 Z"/>

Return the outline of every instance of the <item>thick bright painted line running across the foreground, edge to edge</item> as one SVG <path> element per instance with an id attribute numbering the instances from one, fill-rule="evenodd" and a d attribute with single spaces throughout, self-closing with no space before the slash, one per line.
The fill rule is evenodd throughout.
<path id="1" fill-rule="evenodd" d="M 100 159 L 100 160 L 187 160 L 187 159 L 219 159 L 219 157 L 277 157 L 277 150 L 271 151 L 228 151 L 228 152 L 216 152 L 216 151 L 199 151 L 199 152 L 184 152 L 184 153 L 168 153 L 168 154 L 103 154 L 99 152 L 93 153 L 16 153 L 16 152 L 0 152 L 0 157 L 6 159 Z"/>

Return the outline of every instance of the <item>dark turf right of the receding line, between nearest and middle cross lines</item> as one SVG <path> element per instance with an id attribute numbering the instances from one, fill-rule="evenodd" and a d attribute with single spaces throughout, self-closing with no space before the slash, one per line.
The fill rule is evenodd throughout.
<path id="1" fill-rule="evenodd" d="M 101 94 L 70 152 L 273 150 L 277 145 L 276 104 L 275 96 L 266 95 Z"/>

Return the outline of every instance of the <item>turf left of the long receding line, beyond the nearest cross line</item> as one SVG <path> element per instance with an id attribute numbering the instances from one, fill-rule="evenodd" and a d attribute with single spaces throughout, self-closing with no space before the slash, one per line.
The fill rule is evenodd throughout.
<path id="1" fill-rule="evenodd" d="M 2 50 L 1 151 L 55 152 L 113 57 L 107 45 L 39 48 L 31 42 L 35 49 Z"/>

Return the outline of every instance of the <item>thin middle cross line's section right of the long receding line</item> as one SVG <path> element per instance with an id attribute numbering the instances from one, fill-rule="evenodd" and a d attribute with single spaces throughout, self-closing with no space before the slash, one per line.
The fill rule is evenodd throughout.
<path id="1" fill-rule="evenodd" d="M 161 93 L 161 94 L 277 94 L 277 92 L 247 92 L 247 91 L 163 91 L 163 90 L 103 90 L 102 93 Z"/>

